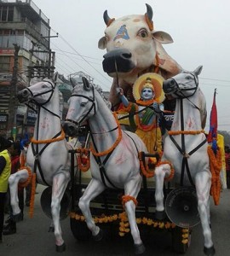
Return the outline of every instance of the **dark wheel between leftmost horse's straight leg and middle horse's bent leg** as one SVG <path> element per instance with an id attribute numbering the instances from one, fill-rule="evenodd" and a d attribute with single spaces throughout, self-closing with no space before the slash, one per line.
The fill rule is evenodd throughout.
<path id="1" fill-rule="evenodd" d="M 79 221 L 79 220 L 76 220 L 75 218 L 70 218 L 70 225 L 71 225 L 72 235 L 78 241 L 89 240 L 91 233 L 84 221 Z"/>

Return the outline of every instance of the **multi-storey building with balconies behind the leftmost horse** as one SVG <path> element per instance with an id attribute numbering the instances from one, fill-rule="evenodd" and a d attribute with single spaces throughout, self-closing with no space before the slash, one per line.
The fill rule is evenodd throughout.
<path id="1" fill-rule="evenodd" d="M 36 114 L 20 106 L 15 94 L 28 86 L 38 74 L 50 74 L 54 60 L 49 39 L 49 19 L 35 3 L 31 0 L 0 0 L 1 135 L 22 133 L 25 119 L 29 132 L 32 132 Z M 17 54 L 16 49 L 19 49 Z"/>

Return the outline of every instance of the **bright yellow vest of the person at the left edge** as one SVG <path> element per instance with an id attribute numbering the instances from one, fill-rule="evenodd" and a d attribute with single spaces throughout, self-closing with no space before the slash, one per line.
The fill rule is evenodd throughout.
<path id="1" fill-rule="evenodd" d="M 6 160 L 6 166 L 0 175 L 0 192 L 6 193 L 8 189 L 9 175 L 11 172 L 11 160 L 7 149 L 0 152 L 0 156 L 3 156 Z"/>

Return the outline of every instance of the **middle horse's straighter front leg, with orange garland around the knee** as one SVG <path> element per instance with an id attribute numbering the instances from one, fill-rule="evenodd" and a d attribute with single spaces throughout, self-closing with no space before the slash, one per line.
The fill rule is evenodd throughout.
<path id="1" fill-rule="evenodd" d="M 129 180 L 128 183 L 124 186 L 125 195 L 132 196 L 134 198 L 137 197 L 139 191 L 141 189 L 141 176 L 133 177 Z M 135 254 L 144 253 L 146 248 L 141 241 L 140 231 L 135 221 L 135 202 L 130 200 L 124 204 L 125 212 L 129 218 L 129 226 L 131 230 L 131 235 L 135 244 Z"/>

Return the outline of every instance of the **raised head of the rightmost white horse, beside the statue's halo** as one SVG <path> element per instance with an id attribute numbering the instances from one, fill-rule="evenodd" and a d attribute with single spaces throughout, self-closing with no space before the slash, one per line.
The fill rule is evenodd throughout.
<path id="1" fill-rule="evenodd" d="M 183 71 L 163 82 L 163 90 L 166 96 L 173 98 L 187 98 L 193 96 L 198 89 L 198 75 L 203 66 L 197 67 L 193 72 Z"/>

